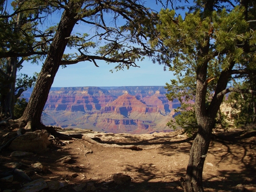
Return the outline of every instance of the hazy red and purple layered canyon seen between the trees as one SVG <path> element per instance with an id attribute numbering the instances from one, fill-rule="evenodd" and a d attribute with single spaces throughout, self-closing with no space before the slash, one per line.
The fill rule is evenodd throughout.
<path id="1" fill-rule="evenodd" d="M 170 132 L 166 123 L 179 102 L 168 101 L 166 93 L 163 86 L 52 87 L 42 122 L 99 132 Z"/>

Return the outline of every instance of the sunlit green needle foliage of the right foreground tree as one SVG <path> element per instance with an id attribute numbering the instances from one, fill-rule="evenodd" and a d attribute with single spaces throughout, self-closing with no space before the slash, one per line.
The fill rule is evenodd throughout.
<path id="1" fill-rule="evenodd" d="M 197 2 L 198 8 L 203 6 L 200 2 Z M 180 114 L 175 116 L 175 121 L 185 130 L 197 127 L 194 118 L 196 112 L 192 108 L 186 110 L 189 100 L 196 101 L 196 97 L 203 95 L 205 104 L 197 107 L 197 110 L 201 110 L 199 114 L 202 114 L 202 111 L 207 111 L 210 105 L 214 105 L 213 101 L 216 102 L 216 91 L 226 89 L 224 87 L 216 90 L 216 87 L 221 87 L 220 78 L 224 73 L 230 71 L 225 76 L 229 77 L 229 86 L 234 86 L 236 81 L 248 77 L 245 70 L 255 70 L 255 13 L 249 11 L 249 15 L 254 22 L 245 19 L 243 6 L 236 6 L 231 10 L 219 7 L 208 12 L 207 16 L 200 9 L 192 9 L 184 18 L 181 15 L 176 16 L 175 10 L 160 11 L 160 22 L 156 25 L 158 37 L 151 38 L 150 43 L 159 52 L 165 50 L 155 61 L 168 64 L 169 70 L 175 76 L 171 84 L 166 86 L 169 91 L 167 98 L 170 101 L 179 99 L 181 102 L 178 110 Z M 203 91 L 199 93 L 196 90 L 197 74 L 205 64 L 206 89 L 201 89 Z M 230 66 L 236 72 L 232 72 Z M 252 89 L 256 90 L 255 88 Z M 223 115 L 220 117 L 225 118 Z M 221 118 L 218 119 L 219 123 L 223 123 Z M 173 126 L 172 123 L 169 122 L 168 126 Z M 223 126 L 225 127 L 224 124 Z"/>

